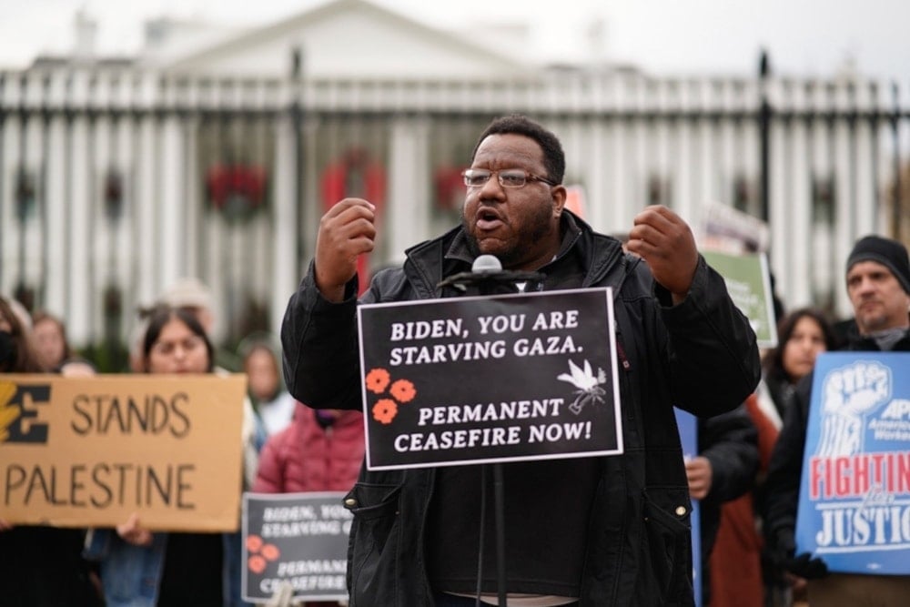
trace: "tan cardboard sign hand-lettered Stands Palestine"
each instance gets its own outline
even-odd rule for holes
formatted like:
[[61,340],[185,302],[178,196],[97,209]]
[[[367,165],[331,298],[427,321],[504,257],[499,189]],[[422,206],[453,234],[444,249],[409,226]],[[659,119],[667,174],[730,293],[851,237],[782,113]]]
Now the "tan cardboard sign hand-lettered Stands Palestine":
[[245,375],[0,375],[0,519],[235,531]]

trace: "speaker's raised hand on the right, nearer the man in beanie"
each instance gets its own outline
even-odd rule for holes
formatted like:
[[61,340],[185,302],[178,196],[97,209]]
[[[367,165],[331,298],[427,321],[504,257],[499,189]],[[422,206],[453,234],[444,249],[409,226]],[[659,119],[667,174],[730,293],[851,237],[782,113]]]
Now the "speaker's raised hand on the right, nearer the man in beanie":
[[652,206],[635,216],[626,247],[644,259],[654,279],[672,293],[673,303],[685,298],[698,266],[698,249],[689,225],[667,207]]

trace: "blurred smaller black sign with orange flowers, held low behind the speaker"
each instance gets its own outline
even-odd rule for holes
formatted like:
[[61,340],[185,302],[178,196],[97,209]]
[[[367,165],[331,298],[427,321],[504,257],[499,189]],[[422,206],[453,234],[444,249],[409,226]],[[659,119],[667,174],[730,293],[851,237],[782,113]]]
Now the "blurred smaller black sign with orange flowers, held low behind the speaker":
[[350,512],[343,491],[243,494],[243,599],[287,582],[307,601],[345,601]]

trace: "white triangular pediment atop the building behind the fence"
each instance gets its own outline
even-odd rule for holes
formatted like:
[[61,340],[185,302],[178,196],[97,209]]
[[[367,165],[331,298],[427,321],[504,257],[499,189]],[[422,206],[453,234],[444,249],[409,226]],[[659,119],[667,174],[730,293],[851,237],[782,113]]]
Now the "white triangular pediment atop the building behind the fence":
[[335,0],[159,63],[172,74],[286,77],[295,48],[303,76],[329,79],[487,79],[531,71],[480,41],[373,5]]

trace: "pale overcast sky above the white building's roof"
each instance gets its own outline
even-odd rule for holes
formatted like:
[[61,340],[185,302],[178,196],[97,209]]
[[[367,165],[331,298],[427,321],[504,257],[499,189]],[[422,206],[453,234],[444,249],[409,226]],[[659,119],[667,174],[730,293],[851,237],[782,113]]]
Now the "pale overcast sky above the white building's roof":
[[[778,73],[831,76],[852,61],[865,75],[910,85],[910,0],[373,0],[443,27],[525,21],[529,55],[578,59],[585,30],[602,20],[602,55],[652,73],[752,74],[759,49]],[[0,66],[66,53],[84,9],[102,53],[130,53],[144,19],[206,18],[256,25],[325,0],[0,0]],[[586,25],[587,24],[587,25]]]

